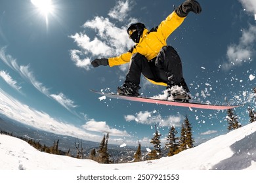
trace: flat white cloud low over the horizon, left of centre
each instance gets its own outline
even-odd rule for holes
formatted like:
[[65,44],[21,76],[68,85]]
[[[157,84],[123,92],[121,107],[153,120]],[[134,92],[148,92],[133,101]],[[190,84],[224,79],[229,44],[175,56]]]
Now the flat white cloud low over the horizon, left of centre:
[[83,129],[100,133],[110,133],[110,135],[114,136],[129,137],[129,134],[127,134],[126,131],[120,131],[116,128],[111,128],[106,124],[106,122],[96,122],[93,119],[83,125]]

